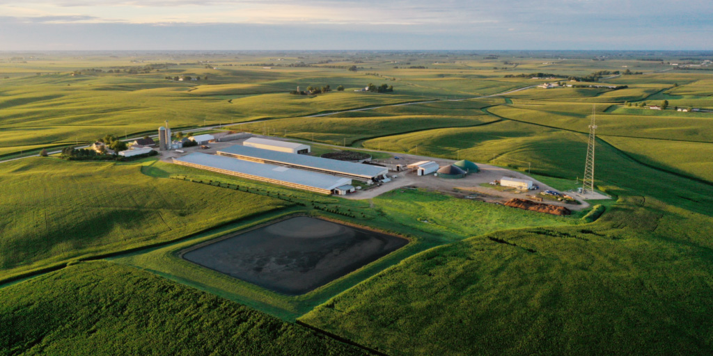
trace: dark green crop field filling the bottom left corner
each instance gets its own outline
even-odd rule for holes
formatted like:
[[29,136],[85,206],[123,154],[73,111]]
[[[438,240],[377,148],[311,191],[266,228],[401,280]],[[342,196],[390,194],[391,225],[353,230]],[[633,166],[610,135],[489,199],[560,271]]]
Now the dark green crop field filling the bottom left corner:
[[0,300],[0,355],[366,355],[302,326],[103,261],[0,289]]

